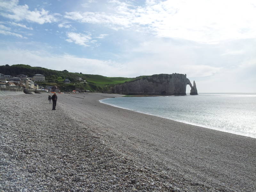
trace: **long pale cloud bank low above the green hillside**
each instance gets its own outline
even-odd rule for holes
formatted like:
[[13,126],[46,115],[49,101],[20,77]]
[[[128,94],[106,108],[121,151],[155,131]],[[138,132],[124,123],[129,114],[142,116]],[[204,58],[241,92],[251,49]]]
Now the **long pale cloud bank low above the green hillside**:
[[1,50],[0,65],[28,64],[53,70],[68,70],[84,74],[100,74],[103,76],[124,75],[129,69],[111,60],[79,58],[72,55],[52,55],[44,51]]

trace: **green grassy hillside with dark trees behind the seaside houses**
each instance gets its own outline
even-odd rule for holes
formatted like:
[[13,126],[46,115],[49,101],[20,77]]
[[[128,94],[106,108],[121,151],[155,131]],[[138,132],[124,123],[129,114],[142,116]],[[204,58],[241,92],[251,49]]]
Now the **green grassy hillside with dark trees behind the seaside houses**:
[[[51,70],[42,67],[31,67],[29,65],[3,65],[0,66],[0,73],[4,75],[18,76],[20,74],[27,75],[32,77],[35,74],[42,74],[45,76],[46,82],[37,82],[41,86],[47,85],[57,85],[61,91],[70,91],[70,90],[90,90],[90,91],[102,91],[105,86],[111,84],[119,84],[128,81],[132,81],[135,78],[126,78],[126,77],[106,77],[101,75],[90,75],[82,73],[71,73],[67,70],[57,71]],[[77,77],[81,77],[83,80],[86,80],[87,83],[79,82],[76,80]],[[65,84],[64,80],[69,79],[70,84]]]

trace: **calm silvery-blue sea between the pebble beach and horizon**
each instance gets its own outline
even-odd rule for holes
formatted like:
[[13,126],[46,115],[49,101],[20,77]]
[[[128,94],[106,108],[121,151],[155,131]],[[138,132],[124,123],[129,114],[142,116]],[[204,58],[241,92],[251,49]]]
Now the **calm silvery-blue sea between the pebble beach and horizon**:
[[256,138],[256,93],[120,97],[100,102],[140,113]]

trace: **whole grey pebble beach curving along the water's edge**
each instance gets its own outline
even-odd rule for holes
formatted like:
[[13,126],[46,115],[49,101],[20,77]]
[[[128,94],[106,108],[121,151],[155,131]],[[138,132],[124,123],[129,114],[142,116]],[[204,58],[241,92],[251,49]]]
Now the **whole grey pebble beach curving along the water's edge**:
[[0,191],[256,191],[256,139],[115,108],[0,97]]

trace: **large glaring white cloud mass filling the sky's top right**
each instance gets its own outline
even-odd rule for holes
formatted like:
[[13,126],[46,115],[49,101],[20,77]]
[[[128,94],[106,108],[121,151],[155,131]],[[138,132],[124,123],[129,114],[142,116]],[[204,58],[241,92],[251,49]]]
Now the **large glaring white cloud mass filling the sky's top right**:
[[103,24],[112,29],[150,31],[159,37],[214,43],[256,38],[256,6],[253,3],[253,0],[147,0],[144,6],[135,7],[131,2],[111,0],[108,10],[66,12],[65,18]]

